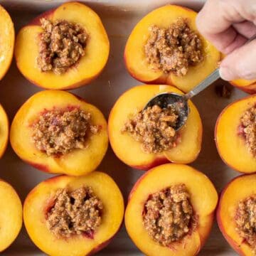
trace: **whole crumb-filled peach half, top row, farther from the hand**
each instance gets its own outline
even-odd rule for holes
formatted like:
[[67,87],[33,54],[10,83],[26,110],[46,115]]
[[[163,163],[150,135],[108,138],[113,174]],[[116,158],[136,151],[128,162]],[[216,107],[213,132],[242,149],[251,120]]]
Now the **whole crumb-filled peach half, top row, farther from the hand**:
[[88,84],[107,63],[110,42],[100,17],[68,2],[35,18],[19,31],[18,69],[35,85],[68,90]]

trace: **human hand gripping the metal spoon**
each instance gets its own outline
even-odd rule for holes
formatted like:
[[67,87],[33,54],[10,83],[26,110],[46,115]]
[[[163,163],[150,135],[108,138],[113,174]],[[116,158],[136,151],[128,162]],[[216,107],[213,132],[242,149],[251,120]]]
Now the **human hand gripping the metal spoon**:
[[198,13],[200,33],[226,56],[220,63],[224,80],[256,79],[255,0],[208,0]]

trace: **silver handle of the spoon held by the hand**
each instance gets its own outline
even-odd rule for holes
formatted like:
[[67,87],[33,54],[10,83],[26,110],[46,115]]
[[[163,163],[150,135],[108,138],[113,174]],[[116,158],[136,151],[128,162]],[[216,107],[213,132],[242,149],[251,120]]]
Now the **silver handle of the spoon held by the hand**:
[[[245,42],[245,45],[253,41],[255,38],[256,38],[256,34],[251,38],[249,38],[248,41]],[[213,73],[210,73],[210,75],[208,75],[208,77],[205,80],[203,80],[198,86],[193,88],[193,90],[191,90],[190,92],[186,93],[186,95],[184,95],[183,97],[186,100],[189,100],[191,97],[197,95],[199,92],[206,89],[206,87],[208,87],[210,84],[212,84],[213,82],[215,82],[215,80],[218,80],[219,78],[220,78],[220,69],[217,68],[213,71]]]

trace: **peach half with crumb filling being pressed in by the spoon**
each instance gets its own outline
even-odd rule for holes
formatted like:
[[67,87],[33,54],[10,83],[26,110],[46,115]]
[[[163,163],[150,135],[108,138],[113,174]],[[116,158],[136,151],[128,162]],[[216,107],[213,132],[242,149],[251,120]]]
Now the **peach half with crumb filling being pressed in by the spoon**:
[[[194,161],[201,151],[203,127],[198,110],[191,101],[188,102],[190,113],[187,122],[178,132],[173,131],[171,128],[173,120],[169,119],[174,118],[175,115],[161,117],[164,113],[160,113],[157,117],[159,118],[158,124],[154,123],[153,115],[146,113],[150,122],[144,118],[141,123],[142,127],[137,127],[136,118],[140,118],[139,115],[146,117],[142,112],[144,105],[151,97],[161,92],[182,93],[170,85],[139,85],[124,92],[110,112],[108,132],[112,149],[119,159],[134,168],[147,170],[169,161],[187,164]],[[152,122],[153,125],[159,126],[157,128],[159,136],[164,139],[164,143],[156,138],[158,135],[154,127],[151,129]],[[129,130],[129,127],[132,127],[134,131]],[[142,134],[137,138],[136,132],[139,132],[141,128],[151,129],[151,134],[146,136]],[[153,149],[150,148],[152,145]]]

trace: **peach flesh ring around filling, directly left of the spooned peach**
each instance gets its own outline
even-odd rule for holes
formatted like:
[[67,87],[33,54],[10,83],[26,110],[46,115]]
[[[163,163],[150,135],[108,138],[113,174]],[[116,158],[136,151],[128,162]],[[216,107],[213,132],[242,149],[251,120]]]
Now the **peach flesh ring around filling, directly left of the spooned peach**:
[[[48,110],[73,108],[90,113],[90,122],[100,127],[99,132],[88,135],[87,146],[83,149],[48,156],[33,142],[33,123]],[[46,90],[30,97],[18,110],[11,124],[10,141],[16,154],[37,169],[52,174],[79,176],[94,171],[105,156],[108,146],[107,122],[97,107],[70,92]]]

